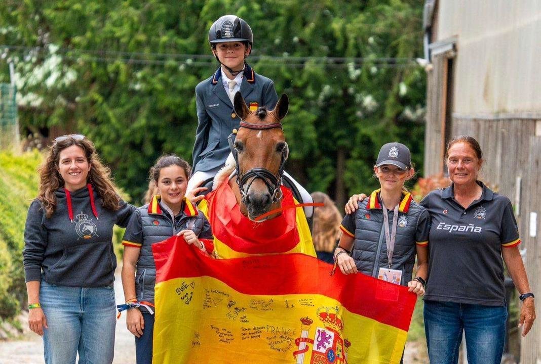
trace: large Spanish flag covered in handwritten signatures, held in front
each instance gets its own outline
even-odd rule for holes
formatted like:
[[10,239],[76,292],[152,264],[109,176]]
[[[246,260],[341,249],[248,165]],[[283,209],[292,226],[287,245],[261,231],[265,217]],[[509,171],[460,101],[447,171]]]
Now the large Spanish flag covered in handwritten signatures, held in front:
[[213,259],[153,245],[154,363],[399,363],[417,296],[306,254]]

